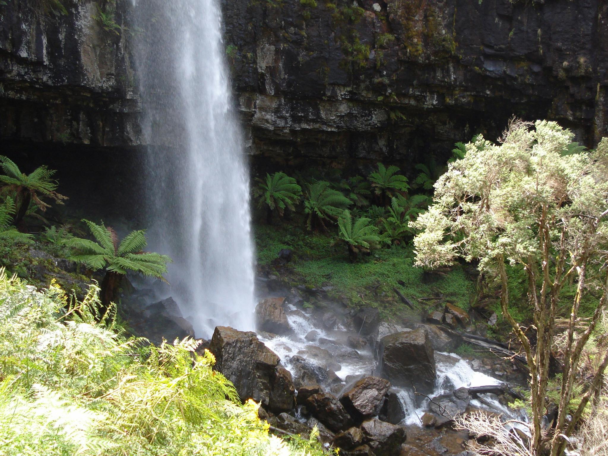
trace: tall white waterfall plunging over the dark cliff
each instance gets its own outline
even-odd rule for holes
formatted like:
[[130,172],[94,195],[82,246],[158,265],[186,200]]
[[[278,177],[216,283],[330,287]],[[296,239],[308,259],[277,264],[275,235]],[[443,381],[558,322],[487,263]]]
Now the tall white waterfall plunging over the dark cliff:
[[150,248],[197,337],[254,329],[249,176],[218,0],[135,0]]

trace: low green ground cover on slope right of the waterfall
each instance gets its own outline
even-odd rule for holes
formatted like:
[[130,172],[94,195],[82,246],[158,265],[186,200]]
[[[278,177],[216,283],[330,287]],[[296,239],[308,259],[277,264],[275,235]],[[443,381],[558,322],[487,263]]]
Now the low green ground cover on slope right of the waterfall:
[[288,263],[285,274],[291,271],[294,277],[299,275],[297,278],[307,286],[333,286],[332,293],[346,296],[351,305],[377,306],[385,316],[407,309],[393,288],[398,289],[418,310],[429,309],[433,301],[424,302],[417,298],[440,294],[455,305],[468,309],[474,295],[474,283],[466,277],[460,265],[438,273],[426,273],[413,266],[410,247],[375,249],[369,257],[351,263],[344,244],[336,243],[336,237],[329,234],[299,234],[297,227],[260,225],[255,227],[255,241],[258,264],[273,268],[278,252],[291,249],[294,259]]

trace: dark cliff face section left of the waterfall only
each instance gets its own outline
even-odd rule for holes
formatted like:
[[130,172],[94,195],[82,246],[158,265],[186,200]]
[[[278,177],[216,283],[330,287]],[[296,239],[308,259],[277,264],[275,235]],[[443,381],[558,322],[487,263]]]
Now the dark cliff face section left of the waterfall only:
[[[128,33],[105,30],[99,3],[0,6],[0,138],[127,148],[139,142]],[[116,20],[124,5],[119,3]],[[40,145],[38,145],[40,147]]]

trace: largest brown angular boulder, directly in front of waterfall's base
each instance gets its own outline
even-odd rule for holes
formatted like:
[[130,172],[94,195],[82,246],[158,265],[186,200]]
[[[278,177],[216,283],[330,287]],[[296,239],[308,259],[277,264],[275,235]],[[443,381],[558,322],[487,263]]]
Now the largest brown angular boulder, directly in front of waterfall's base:
[[288,412],[294,407],[295,388],[291,373],[280,365],[277,354],[251,331],[217,326],[209,350],[215,354],[213,366],[229,379],[244,402],[254,399],[272,412]]

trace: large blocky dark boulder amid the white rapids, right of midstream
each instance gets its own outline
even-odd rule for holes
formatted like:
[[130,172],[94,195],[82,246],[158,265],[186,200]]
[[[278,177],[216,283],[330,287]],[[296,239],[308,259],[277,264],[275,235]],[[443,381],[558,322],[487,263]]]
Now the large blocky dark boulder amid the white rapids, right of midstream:
[[390,334],[380,342],[382,373],[393,385],[429,394],[435,385],[435,356],[427,328]]

